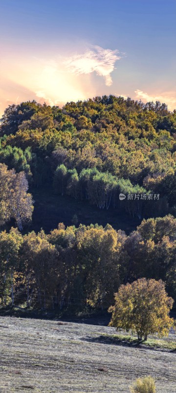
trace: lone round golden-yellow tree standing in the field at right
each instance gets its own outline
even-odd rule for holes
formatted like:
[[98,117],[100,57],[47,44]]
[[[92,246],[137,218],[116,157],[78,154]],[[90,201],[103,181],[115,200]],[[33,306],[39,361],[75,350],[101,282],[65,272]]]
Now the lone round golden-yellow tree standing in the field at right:
[[121,285],[115,293],[115,305],[109,308],[112,312],[110,326],[137,333],[138,339],[147,340],[148,334],[154,333],[159,337],[167,336],[175,325],[169,316],[173,303],[161,280],[143,278]]

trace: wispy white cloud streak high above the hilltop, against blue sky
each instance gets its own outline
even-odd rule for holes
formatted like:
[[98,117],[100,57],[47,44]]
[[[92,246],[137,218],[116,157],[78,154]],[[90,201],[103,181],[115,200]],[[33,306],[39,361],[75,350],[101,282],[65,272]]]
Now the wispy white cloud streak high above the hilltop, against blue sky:
[[103,76],[106,85],[110,86],[110,74],[115,68],[115,62],[120,58],[118,50],[103,49],[96,45],[84,54],[69,57],[64,63],[68,71],[76,75],[96,72],[97,75]]

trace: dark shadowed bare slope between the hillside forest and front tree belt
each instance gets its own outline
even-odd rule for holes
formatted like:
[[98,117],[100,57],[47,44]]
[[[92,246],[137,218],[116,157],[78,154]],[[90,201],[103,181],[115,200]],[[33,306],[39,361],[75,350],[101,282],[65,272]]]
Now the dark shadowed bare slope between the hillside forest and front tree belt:
[[124,212],[117,210],[100,210],[92,206],[88,201],[77,201],[68,196],[54,195],[52,188],[33,189],[32,193],[34,203],[34,212],[32,225],[26,229],[39,231],[41,227],[45,232],[57,227],[59,223],[72,225],[71,219],[74,214],[78,217],[78,225],[90,225],[98,223],[105,226],[107,223],[115,229],[125,230],[129,234],[140,224],[140,221],[133,219]]

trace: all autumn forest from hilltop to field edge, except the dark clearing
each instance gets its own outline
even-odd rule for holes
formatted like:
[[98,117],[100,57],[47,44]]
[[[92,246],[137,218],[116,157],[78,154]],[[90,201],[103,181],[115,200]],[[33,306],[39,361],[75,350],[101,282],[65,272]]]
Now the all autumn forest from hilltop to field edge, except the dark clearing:
[[[49,187],[56,197],[68,195],[144,220],[129,236],[108,224],[76,227],[76,217],[73,225],[59,224],[49,234],[22,235],[32,220],[28,187]],[[66,299],[108,308],[120,284],[142,277],[162,279],[176,300],[175,217],[176,111],[165,104],[110,95],[62,109],[28,101],[5,110],[0,120],[2,305],[14,303],[16,296],[42,308],[61,307]],[[18,229],[8,232],[4,225],[10,220]]]

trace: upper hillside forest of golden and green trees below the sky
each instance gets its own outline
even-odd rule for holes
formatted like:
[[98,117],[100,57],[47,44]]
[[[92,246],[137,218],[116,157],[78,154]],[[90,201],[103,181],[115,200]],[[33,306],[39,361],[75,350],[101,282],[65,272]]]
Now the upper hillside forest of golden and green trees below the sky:
[[[100,208],[115,207],[123,190],[159,194],[155,204],[124,207],[139,217],[176,213],[176,111],[165,104],[112,95],[63,109],[29,101],[5,110],[0,135],[0,162],[24,170],[30,185],[54,182],[56,192],[88,196]],[[91,182],[104,187],[102,200],[92,201]]]

